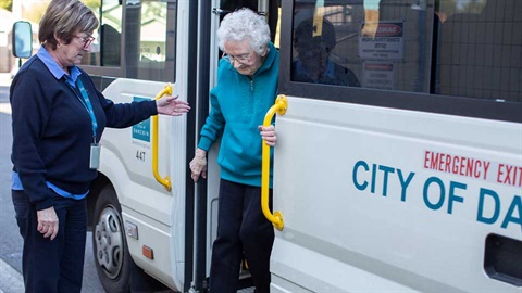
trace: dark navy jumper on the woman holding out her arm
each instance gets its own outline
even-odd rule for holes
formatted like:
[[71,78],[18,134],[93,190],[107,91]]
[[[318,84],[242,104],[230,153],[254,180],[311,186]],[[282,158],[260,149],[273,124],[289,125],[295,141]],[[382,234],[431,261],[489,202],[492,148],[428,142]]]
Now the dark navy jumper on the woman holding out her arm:
[[[124,128],[157,115],[156,101],[114,104],[80,69],[98,123],[97,141],[105,127]],[[73,194],[86,193],[97,170],[89,169],[91,118],[78,90],[57,79],[37,56],[16,74],[10,89],[13,127],[11,160],[23,189],[36,208],[53,205],[46,181]]]

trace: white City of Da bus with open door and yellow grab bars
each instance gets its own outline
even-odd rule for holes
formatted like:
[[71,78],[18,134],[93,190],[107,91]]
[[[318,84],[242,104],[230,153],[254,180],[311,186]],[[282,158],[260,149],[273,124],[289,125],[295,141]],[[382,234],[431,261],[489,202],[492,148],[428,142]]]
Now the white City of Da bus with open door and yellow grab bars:
[[521,1],[89,5],[101,26],[82,67],[107,98],[172,91],[191,106],[104,132],[88,225],[107,292],[136,275],[208,291],[219,145],[206,180],[188,163],[215,30],[240,7],[266,17],[281,53],[271,291],[522,292]]

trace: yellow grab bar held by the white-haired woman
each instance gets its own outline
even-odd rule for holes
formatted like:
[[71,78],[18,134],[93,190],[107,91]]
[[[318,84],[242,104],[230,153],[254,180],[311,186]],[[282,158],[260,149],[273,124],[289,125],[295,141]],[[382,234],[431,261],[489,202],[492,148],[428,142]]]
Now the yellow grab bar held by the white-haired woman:
[[[264,116],[263,126],[268,127],[272,123],[272,117],[275,113],[279,115],[285,115],[288,102],[286,101],[286,95],[279,94],[275,100],[273,106],[270,107],[269,112]],[[269,178],[270,178],[270,146],[262,141],[263,152],[262,152],[262,162],[261,162],[261,209],[263,211],[264,216],[268,220],[274,225],[277,230],[283,230],[285,222],[283,221],[283,215],[279,212],[270,212],[269,208]]]

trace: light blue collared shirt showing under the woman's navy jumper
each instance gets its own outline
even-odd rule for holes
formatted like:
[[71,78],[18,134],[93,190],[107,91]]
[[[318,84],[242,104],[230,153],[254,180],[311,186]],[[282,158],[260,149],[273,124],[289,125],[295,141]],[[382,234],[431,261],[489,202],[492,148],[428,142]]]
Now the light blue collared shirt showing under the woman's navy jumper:
[[[82,74],[82,72],[78,69],[76,66],[71,66],[69,69],[71,71],[71,75],[65,73],[59,65],[58,63],[52,59],[51,54],[44,48],[44,46],[38,49],[38,52],[36,55],[46,64],[47,68],[51,72],[51,74],[57,78],[58,80],[62,79],[65,76],[66,82],[72,86],[73,88],[76,88],[76,79],[78,76]],[[11,189],[12,190],[24,190],[24,187],[22,186],[22,181],[20,181],[20,176],[17,173],[13,171],[11,176]],[[54,186],[53,183],[46,181],[47,187],[52,189],[55,193],[60,194],[63,198],[70,198],[74,200],[82,200],[87,194],[89,191],[83,194],[73,194],[71,192],[67,192],[63,189],[60,189],[59,187]]]

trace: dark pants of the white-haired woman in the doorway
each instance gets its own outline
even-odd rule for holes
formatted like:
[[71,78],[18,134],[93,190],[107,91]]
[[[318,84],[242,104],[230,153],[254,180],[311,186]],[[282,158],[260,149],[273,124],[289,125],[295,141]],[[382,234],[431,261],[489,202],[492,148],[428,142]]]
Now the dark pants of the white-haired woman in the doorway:
[[[269,200],[272,203],[272,190]],[[210,292],[237,292],[243,255],[252,275],[256,292],[270,292],[273,243],[274,228],[261,211],[261,188],[222,179],[217,238],[212,246]]]

